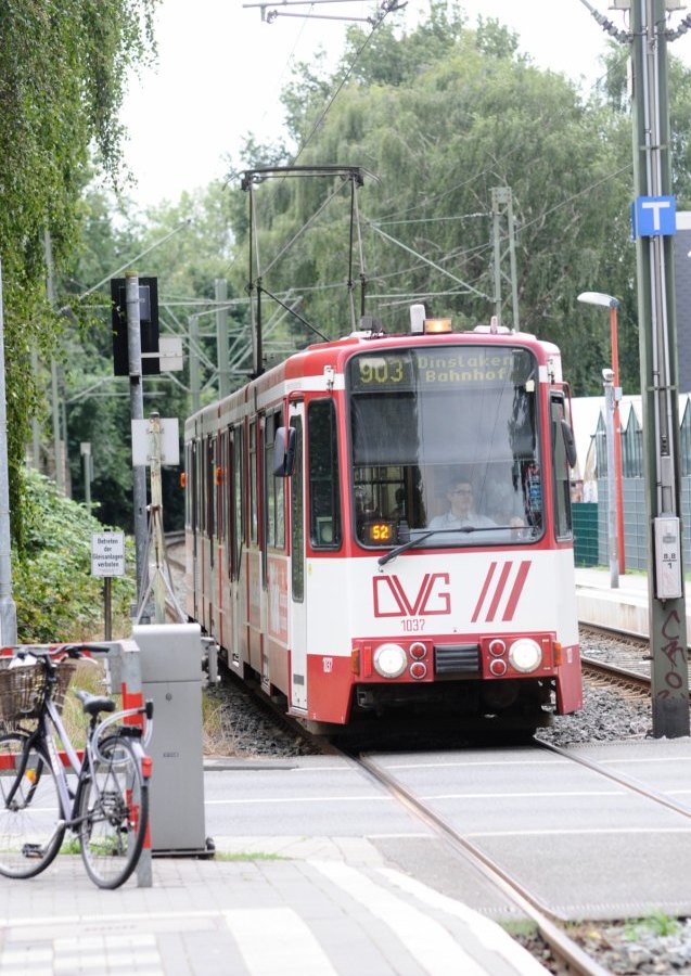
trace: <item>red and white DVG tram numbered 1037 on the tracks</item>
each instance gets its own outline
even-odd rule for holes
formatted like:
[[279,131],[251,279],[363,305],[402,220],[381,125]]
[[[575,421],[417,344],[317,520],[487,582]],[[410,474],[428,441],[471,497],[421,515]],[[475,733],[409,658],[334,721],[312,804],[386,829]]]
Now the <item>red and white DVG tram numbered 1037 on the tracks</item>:
[[311,346],[188,420],[188,613],[305,720],[534,728],[583,705],[560,352],[418,328]]

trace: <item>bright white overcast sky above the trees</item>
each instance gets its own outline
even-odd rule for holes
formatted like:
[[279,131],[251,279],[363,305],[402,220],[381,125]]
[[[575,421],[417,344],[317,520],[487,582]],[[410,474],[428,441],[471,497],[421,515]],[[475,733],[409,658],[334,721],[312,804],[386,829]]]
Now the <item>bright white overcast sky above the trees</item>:
[[[156,17],[158,64],[132,78],[123,120],[130,133],[126,162],[137,179],[131,195],[140,206],[205,187],[226,176],[223,157],[238,159],[248,131],[265,142],[280,134],[279,92],[291,64],[309,61],[321,46],[335,60],[346,24],[303,16],[310,8],[268,9],[299,16],[261,22],[255,0],[163,0]],[[611,0],[590,0],[618,28],[624,15],[609,11]],[[497,17],[520,36],[521,50],[535,62],[589,80],[600,74],[598,57],[606,36],[580,0],[459,0],[474,26],[478,14]],[[364,0],[313,7],[315,13],[367,16]],[[409,0],[406,20],[414,24],[427,0]],[[674,16],[673,26],[679,21]],[[367,26],[367,25],[363,25]],[[691,33],[671,46],[691,64]]]

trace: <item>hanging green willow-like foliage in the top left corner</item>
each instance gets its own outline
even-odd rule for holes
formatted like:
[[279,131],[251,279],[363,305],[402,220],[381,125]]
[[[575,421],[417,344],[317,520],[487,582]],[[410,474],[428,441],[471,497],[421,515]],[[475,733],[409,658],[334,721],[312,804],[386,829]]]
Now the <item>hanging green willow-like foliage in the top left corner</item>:
[[20,545],[24,448],[38,404],[30,352],[49,360],[62,332],[46,295],[44,233],[60,269],[78,242],[90,146],[105,172],[119,174],[124,79],[152,49],[155,4],[0,4],[0,257],[12,529]]

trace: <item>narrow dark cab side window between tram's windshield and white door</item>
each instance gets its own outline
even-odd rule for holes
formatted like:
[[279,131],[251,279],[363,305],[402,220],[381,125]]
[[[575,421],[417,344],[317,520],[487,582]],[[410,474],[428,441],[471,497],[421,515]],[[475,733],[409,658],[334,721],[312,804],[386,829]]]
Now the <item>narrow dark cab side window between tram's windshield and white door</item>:
[[336,411],[332,400],[315,400],[307,411],[309,537],[315,549],[341,545],[341,489]]

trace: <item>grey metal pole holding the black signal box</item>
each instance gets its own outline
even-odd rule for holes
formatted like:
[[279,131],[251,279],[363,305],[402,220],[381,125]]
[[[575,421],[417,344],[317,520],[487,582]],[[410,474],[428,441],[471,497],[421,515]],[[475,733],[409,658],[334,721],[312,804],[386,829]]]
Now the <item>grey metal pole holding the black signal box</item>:
[[[139,277],[128,271],[125,277],[127,306],[127,351],[129,355],[129,407],[132,420],[144,419],[144,390],[141,371],[141,324],[139,316]],[[144,558],[146,553],[146,467],[132,466],[132,503],[135,550],[137,554],[137,605],[142,598]]]

